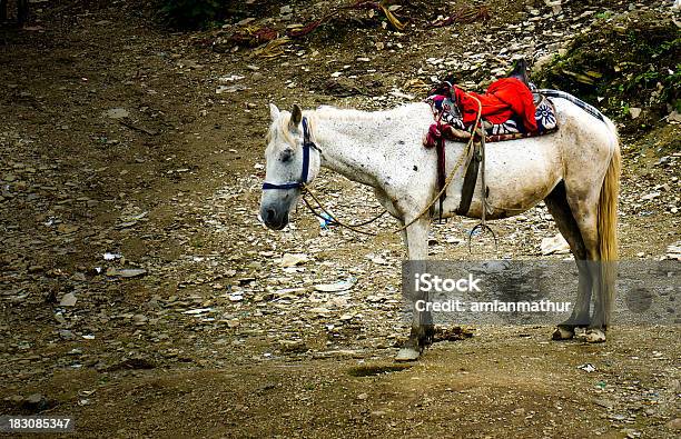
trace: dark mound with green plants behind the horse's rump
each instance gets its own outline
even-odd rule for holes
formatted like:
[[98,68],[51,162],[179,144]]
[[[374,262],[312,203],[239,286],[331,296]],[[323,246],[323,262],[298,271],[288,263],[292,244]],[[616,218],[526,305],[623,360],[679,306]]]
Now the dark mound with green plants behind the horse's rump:
[[[671,20],[623,13],[598,20],[534,79],[579,96],[636,131],[671,109],[681,111],[679,60],[681,38]],[[634,107],[643,109],[635,122],[629,111]]]

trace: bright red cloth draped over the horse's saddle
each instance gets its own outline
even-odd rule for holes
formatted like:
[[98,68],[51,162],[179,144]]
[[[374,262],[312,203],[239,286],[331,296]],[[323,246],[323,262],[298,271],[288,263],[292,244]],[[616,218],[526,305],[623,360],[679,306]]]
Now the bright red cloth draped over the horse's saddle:
[[494,124],[504,123],[517,114],[527,131],[536,132],[535,107],[532,92],[521,80],[502,78],[487,88],[485,94],[465,92],[458,87],[454,88],[456,102],[463,116],[463,122],[470,126],[477,117],[477,102],[471,97],[480,99],[482,103],[482,119]]

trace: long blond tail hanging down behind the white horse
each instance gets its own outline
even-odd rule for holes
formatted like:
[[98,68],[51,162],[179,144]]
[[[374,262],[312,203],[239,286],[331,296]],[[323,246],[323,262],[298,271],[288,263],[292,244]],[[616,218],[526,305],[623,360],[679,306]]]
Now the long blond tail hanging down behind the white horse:
[[612,121],[605,118],[604,120],[613,139],[613,152],[608,164],[608,171],[603,184],[601,186],[601,194],[599,198],[599,251],[601,260],[599,262],[601,270],[601,295],[603,298],[604,325],[609,323],[610,310],[614,301],[615,293],[615,261],[618,259],[618,196],[620,192],[620,171],[622,157],[620,152],[620,141],[618,131]]

